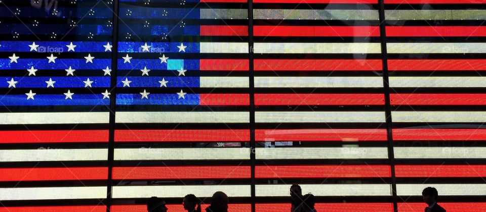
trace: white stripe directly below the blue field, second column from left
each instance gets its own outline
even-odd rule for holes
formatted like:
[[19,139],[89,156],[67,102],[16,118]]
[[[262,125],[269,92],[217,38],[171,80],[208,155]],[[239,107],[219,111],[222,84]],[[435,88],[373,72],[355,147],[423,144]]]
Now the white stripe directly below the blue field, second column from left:
[[116,123],[248,123],[249,112],[116,112]]

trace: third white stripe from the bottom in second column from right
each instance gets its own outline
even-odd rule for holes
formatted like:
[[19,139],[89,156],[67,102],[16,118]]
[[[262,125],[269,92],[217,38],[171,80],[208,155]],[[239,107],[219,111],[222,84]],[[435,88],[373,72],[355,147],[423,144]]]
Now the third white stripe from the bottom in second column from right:
[[384,112],[255,112],[257,123],[375,123],[385,122]]

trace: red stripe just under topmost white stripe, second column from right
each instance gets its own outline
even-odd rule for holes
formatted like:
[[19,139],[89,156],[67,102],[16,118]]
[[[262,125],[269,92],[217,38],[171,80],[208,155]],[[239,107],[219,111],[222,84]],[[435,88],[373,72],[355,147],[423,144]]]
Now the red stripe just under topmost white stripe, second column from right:
[[255,36],[378,37],[377,26],[254,26]]

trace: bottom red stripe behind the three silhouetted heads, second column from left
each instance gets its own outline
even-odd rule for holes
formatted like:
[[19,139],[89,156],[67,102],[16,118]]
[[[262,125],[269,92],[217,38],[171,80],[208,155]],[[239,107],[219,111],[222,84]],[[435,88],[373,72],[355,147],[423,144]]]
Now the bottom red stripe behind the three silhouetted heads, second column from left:
[[[169,212],[187,212],[181,204],[166,204],[167,211]],[[206,207],[209,205],[202,204],[201,210],[206,211]],[[228,204],[228,211],[232,212],[248,212],[252,210],[251,204]],[[147,205],[112,205],[111,212],[147,212]]]

